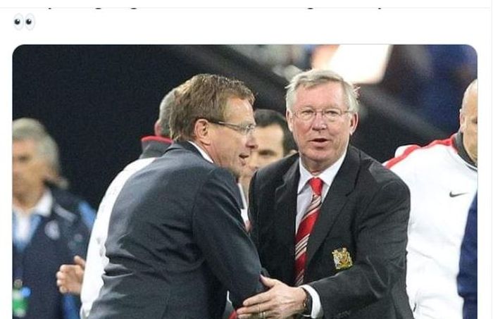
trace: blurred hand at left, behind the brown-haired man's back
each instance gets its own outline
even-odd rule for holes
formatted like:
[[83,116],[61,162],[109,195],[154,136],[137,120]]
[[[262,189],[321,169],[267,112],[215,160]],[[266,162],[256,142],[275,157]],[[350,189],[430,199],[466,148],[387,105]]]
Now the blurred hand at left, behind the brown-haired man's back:
[[85,265],[82,257],[75,256],[73,265],[60,266],[56,273],[56,285],[62,294],[80,294]]

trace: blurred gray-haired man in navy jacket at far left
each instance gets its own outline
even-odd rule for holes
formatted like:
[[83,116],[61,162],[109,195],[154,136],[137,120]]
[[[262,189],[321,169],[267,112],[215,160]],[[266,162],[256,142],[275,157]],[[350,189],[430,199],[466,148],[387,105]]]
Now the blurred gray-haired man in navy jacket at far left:
[[58,147],[39,121],[20,118],[12,130],[13,318],[65,319],[78,301],[56,289],[55,273],[85,256],[94,211],[58,187]]

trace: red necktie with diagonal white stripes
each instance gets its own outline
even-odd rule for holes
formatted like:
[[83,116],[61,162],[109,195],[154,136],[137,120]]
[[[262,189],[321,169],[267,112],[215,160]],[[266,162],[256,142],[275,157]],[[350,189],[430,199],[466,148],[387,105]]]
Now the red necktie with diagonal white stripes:
[[296,276],[295,283],[297,286],[303,283],[306,264],[306,246],[313,225],[315,225],[317,220],[320,206],[322,205],[323,180],[320,180],[318,177],[312,177],[308,183],[312,190],[311,202],[308,208],[306,208],[303,218],[301,218],[301,223],[294,239],[296,243],[294,246],[294,275]]

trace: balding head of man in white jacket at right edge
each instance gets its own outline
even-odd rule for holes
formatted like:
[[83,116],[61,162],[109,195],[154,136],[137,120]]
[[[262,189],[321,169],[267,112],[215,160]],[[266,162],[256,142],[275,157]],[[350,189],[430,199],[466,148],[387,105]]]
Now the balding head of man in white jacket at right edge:
[[468,156],[478,163],[478,80],[470,83],[461,107],[461,127],[459,131],[463,134],[464,148]]

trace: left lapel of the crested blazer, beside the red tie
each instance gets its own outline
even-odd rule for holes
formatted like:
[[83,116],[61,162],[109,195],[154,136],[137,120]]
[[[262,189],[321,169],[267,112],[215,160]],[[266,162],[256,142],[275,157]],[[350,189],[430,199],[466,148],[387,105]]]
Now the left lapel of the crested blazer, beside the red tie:
[[[275,189],[275,238],[285,244],[287,276],[294,280],[294,227],[297,209],[297,189],[299,181],[298,161],[295,161],[284,175],[284,183]],[[277,254],[283,254],[277,252]],[[290,273],[289,273],[290,271]]]

